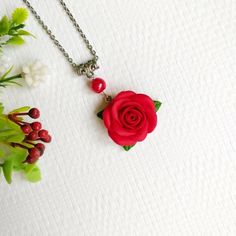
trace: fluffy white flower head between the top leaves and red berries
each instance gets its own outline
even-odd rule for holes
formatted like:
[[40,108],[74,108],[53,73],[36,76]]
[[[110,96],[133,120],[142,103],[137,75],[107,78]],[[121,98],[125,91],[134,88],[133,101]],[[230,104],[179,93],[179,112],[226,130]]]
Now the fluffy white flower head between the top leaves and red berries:
[[48,68],[40,61],[22,67],[22,77],[30,87],[36,87],[49,76]]

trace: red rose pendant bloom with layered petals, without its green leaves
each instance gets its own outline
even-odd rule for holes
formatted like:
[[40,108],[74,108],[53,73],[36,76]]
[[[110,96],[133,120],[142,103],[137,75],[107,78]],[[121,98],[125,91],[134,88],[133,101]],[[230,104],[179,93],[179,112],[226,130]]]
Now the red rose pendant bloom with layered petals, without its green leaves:
[[143,141],[157,125],[154,101],[145,94],[122,91],[102,113],[104,124],[112,140],[122,146]]

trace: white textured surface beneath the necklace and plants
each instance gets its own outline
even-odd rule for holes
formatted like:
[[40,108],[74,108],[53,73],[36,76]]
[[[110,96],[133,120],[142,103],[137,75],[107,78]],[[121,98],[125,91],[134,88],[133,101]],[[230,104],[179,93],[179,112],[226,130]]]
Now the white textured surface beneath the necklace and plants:
[[[89,58],[56,0],[31,2],[77,62]],[[1,178],[0,234],[236,235],[236,2],[66,2],[95,45],[107,92],[159,99],[159,125],[129,152],[113,144],[95,116],[101,97],[30,17],[37,40],[6,53],[18,66],[41,59],[52,77],[2,100],[7,110],[39,107],[53,143],[40,183]],[[0,13],[17,6],[1,0]]]

